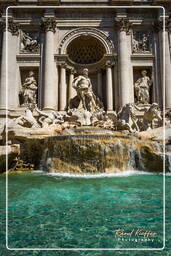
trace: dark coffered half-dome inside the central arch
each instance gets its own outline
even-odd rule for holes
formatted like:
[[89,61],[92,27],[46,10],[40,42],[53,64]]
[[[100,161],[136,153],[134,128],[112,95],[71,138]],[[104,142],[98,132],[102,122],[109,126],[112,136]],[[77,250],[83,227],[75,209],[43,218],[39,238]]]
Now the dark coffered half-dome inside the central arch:
[[91,35],[80,35],[73,39],[67,47],[67,54],[76,64],[94,64],[106,53],[104,45]]

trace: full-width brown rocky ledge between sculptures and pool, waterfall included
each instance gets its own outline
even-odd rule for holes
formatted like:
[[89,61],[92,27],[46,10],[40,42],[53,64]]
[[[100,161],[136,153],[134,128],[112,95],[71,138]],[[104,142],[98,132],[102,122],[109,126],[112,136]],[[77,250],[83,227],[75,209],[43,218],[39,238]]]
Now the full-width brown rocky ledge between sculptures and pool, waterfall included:
[[[8,145],[9,170],[42,169],[46,172],[114,173],[124,170],[162,172],[164,165],[161,129],[131,134],[99,127],[69,128],[56,133],[22,129],[10,133]],[[171,128],[166,129],[169,145]],[[15,144],[13,144],[15,143]],[[17,144],[17,145],[16,145]],[[2,146],[1,146],[2,149]],[[5,167],[4,146],[1,170]],[[168,153],[168,152],[167,152]],[[2,160],[4,159],[4,160]],[[166,172],[170,156],[166,154]]]

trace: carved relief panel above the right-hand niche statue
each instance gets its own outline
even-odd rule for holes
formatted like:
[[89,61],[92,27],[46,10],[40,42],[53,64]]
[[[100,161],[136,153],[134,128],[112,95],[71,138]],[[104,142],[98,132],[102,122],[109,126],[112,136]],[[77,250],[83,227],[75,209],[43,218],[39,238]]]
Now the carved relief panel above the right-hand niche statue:
[[150,52],[150,34],[142,32],[134,32],[132,39],[133,53]]

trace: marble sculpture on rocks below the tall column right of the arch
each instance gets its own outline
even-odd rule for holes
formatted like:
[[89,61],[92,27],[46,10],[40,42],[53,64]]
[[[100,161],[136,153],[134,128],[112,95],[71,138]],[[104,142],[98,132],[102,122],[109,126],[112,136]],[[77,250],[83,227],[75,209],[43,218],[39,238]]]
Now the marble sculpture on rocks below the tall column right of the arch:
[[128,103],[118,112],[117,130],[139,131],[134,104]]

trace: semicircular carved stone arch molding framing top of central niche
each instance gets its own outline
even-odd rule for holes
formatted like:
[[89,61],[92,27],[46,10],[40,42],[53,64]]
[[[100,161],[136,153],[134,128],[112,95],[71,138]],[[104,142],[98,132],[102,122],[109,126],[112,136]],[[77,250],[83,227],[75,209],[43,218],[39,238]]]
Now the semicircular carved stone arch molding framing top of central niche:
[[101,43],[104,45],[106,53],[111,54],[114,52],[114,45],[113,42],[109,39],[109,36],[106,35],[104,32],[95,29],[95,28],[77,28],[74,30],[71,30],[68,32],[64,38],[62,39],[60,45],[59,45],[59,53],[60,54],[66,54],[67,46],[70,44],[70,42],[82,35],[87,36],[93,36],[101,41]]

